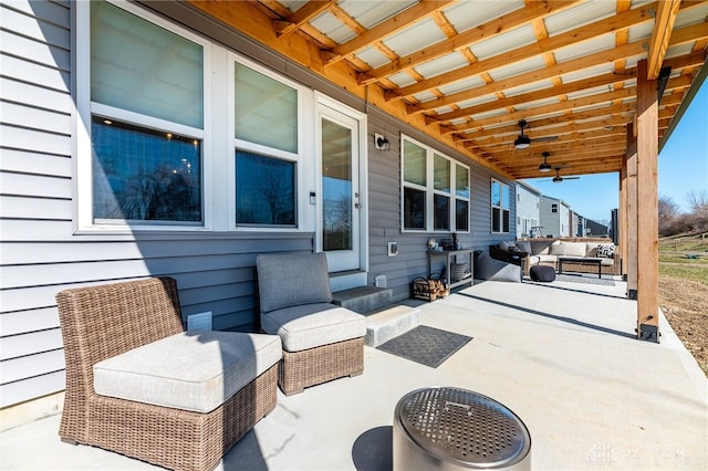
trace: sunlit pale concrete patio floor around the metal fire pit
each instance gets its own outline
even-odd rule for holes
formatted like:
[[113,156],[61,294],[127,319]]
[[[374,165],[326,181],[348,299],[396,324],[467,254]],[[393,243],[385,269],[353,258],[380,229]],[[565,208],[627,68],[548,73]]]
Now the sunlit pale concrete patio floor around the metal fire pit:
[[[537,470],[708,469],[708,380],[662,316],[634,338],[625,284],[480,282],[420,323],[473,337],[438,368],[365,347],[364,374],[285,397],[225,457],[225,470],[391,470],[396,402],[421,387],[489,396],[531,433]],[[0,469],[157,469],[60,441],[59,416],[0,435]]]

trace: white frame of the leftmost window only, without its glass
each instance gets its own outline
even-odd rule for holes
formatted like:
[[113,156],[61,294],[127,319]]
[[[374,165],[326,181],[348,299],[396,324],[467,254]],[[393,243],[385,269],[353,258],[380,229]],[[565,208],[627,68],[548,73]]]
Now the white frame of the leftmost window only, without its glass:
[[[74,187],[74,201],[76,205],[76,214],[74,231],[76,233],[86,232],[117,232],[132,233],[135,230],[145,231],[204,231],[211,230],[211,207],[212,207],[212,139],[209,137],[211,132],[211,85],[209,80],[209,71],[211,70],[211,49],[212,44],[183,29],[178,25],[157,17],[144,9],[140,9],[127,1],[108,1],[123,10],[133,13],[150,23],[164,28],[175,34],[178,34],[191,42],[202,46],[204,51],[204,122],[202,129],[191,126],[171,123],[152,116],[142,115],[139,113],[129,112],[113,106],[91,101],[91,2],[76,2],[76,56],[75,56],[75,75],[76,75],[76,116],[75,123],[75,155],[76,155],[76,184]],[[146,126],[152,129],[178,133],[185,137],[201,140],[201,206],[202,221],[200,224],[180,224],[179,221],[174,223],[145,223],[115,220],[95,222],[93,218],[93,159],[92,159],[92,140],[91,140],[91,121],[92,116],[102,115],[110,116],[117,121],[125,121],[137,126]]]

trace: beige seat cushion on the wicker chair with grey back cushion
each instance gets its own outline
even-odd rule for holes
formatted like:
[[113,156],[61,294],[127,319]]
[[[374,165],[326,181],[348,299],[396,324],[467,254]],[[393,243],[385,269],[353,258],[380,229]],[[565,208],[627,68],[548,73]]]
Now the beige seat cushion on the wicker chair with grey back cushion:
[[363,315],[331,303],[302,304],[271,311],[261,315],[261,327],[269,334],[278,334],[288,352],[366,335]]

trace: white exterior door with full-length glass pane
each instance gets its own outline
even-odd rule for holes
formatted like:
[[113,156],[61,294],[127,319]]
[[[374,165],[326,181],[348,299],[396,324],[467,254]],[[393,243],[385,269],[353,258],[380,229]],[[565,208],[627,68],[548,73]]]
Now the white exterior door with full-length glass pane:
[[362,192],[360,188],[360,122],[319,105],[320,210],[319,249],[330,272],[362,268]]

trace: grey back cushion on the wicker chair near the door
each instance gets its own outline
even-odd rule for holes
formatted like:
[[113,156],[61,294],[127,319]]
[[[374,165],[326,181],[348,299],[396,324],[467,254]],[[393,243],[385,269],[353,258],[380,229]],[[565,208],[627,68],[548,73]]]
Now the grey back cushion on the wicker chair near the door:
[[261,313],[332,301],[327,259],[319,253],[269,253],[256,258]]

